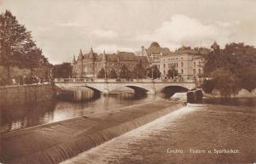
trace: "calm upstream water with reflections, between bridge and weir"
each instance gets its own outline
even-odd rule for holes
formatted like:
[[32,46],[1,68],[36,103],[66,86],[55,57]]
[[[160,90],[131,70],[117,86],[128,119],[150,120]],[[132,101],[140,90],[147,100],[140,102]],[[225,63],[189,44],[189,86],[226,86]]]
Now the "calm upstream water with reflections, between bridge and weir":
[[49,101],[29,105],[5,106],[2,108],[0,132],[58,122],[104,110],[154,101],[155,99],[159,98],[144,93],[114,93],[107,97],[97,96],[95,99],[86,102],[50,99]]

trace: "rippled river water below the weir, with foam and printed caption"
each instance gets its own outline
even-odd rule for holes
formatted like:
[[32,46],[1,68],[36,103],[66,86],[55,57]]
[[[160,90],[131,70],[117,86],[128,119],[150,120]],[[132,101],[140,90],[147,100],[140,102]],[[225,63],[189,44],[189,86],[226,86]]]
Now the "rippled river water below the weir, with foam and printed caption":
[[256,99],[207,99],[81,153],[70,163],[253,163]]

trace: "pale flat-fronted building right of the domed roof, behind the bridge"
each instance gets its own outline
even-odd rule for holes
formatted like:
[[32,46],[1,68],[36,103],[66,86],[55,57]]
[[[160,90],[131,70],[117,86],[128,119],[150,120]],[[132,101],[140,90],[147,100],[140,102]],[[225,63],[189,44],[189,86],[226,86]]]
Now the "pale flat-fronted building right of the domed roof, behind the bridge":
[[207,48],[183,47],[171,54],[160,57],[160,72],[166,78],[169,70],[177,71],[183,80],[195,79],[202,75],[204,55],[209,53]]

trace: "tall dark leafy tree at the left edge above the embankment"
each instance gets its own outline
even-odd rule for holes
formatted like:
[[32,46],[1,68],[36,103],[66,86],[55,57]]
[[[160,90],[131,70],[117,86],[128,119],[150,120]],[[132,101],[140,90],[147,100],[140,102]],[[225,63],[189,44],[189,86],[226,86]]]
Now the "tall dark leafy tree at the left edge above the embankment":
[[0,65],[8,71],[10,78],[11,66],[25,68],[37,67],[42,56],[42,50],[32,41],[31,31],[20,25],[16,17],[8,10],[0,14]]

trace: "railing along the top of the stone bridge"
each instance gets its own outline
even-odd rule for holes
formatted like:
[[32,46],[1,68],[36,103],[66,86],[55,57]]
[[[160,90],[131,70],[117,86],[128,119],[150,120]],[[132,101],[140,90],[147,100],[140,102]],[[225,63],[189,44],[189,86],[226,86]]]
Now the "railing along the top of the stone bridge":
[[195,82],[188,79],[104,79],[104,78],[55,78],[55,82]]

